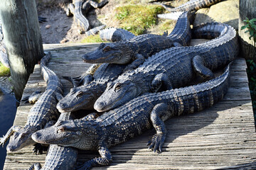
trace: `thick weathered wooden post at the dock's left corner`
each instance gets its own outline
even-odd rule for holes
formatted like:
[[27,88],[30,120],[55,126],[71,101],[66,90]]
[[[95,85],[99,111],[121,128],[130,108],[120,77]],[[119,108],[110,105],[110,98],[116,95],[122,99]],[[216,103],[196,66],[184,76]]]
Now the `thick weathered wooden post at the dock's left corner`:
[[1,0],[0,18],[4,44],[9,55],[14,93],[19,100],[29,74],[43,57],[36,1]]

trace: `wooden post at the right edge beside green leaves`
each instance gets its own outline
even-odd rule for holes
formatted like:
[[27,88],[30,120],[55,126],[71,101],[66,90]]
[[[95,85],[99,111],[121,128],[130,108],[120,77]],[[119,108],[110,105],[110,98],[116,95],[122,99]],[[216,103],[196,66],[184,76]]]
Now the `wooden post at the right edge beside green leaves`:
[[241,26],[245,26],[243,20],[246,18],[256,18],[256,0],[240,0],[239,1],[239,25],[238,34],[240,37],[241,52],[245,59],[251,59],[256,61],[256,46],[253,38],[249,39],[249,33],[245,33],[245,30],[241,30]]

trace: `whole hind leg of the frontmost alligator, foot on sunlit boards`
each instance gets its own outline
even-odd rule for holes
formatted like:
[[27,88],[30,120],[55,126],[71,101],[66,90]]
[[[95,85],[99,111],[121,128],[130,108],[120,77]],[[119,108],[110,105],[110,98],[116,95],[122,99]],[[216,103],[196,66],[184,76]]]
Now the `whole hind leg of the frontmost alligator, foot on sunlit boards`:
[[152,140],[149,140],[148,146],[149,149],[154,149],[154,152],[158,150],[161,152],[161,148],[164,145],[164,140],[166,138],[166,127],[164,121],[161,120],[161,117],[167,115],[168,106],[166,103],[159,103],[154,106],[150,114],[150,120],[156,130],[156,134],[152,137]]

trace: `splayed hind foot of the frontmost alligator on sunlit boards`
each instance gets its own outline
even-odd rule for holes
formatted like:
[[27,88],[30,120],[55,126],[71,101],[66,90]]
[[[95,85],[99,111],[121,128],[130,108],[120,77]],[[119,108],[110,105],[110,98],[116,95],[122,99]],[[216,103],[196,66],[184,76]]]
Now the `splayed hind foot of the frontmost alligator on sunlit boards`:
[[161,148],[164,145],[165,137],[166,137],[165,134],[155,134],[152,137],[152,140],[149,140],[149,142],[147,143],[147,146],[149,146],[149,149],[153,149],[154,152],[158,150],[161,153]]

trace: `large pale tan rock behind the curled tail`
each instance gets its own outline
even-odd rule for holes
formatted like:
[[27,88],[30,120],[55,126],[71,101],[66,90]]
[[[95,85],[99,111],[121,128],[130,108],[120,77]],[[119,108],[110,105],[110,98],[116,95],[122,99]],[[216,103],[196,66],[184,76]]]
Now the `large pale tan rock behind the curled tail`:
[[220,22],[238,30],[239,0],[221,1],[210,8],[201,8],[196,12],[193,26],[201,23]]

